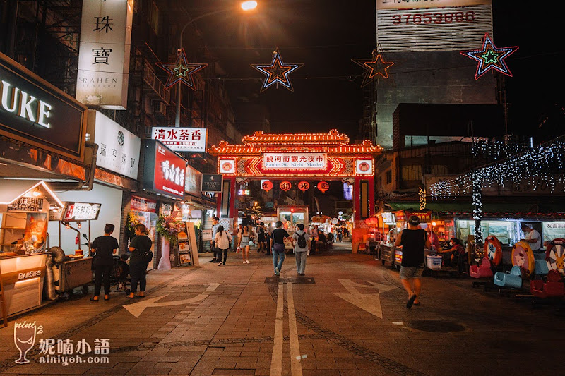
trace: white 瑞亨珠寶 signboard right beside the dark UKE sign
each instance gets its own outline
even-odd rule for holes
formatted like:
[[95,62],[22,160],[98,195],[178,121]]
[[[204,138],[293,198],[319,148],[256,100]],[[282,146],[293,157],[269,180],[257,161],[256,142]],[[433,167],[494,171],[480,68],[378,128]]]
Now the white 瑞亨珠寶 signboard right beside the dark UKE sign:
[[96,165],[136,179],[141,138],[98,111],[88,111],[91,121],[95,121],[94,142],[98,144]]

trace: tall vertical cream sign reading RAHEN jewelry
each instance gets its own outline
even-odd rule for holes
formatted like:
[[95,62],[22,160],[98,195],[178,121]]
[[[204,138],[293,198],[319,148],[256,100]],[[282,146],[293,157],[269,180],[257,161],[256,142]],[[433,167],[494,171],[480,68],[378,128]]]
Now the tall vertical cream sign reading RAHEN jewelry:
[[126,109],[133,0],[83,0],[76,99]]

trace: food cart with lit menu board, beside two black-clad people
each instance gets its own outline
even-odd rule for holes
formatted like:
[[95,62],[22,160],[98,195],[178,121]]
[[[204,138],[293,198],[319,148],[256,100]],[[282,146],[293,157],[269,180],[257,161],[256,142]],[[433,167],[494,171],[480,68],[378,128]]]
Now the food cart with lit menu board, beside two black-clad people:
[[[47,293],[52,300],[57,297],[59,299],[68,298],[77,287],[81,287],[83,294],[87,294],[88,285],[93,281],[93,257],[90,256],[90,221],[98,218],[100,204],[65,202],[65,205],[65,209],[60,214],[52,214],[49,217],[49,220],[59,221],[59,246],[49,248],[51,257],[47,260],[47,286],[49,286]],[[84,243],[86,255],[81,248],[80,229],[83,222],[88,224],[88,236],[82,234],[86,240],[86,243]],[[63,227],[66,230],[76,231],[78,249],[74,251],[74,254],[66,255],[61,248]]]

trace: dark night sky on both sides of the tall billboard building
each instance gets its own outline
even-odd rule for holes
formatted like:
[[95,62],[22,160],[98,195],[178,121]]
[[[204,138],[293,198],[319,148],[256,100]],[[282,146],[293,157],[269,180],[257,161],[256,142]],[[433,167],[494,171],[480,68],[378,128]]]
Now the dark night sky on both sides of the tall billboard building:
[[[362,116],[364,71],[351,59],[370,58],[375,47],[375,2],[259,2],[254,16],[225,13],[198,23],[210,50],[227,71],[225,82],[234,107],[240,101],[264,104],[275,133],[338,128],[355,139]],[[187,9],[194,17],[234,1],[192,3]],[[537,140],[564,133],[561,13],[549,5],[525,1],[494,0],[493,9],[494,44],[520,47],[506,60],[513,73],[506,80],[509,132],[534,135]],[[260,93],[264,76],[250,64],[270,63],[275,47],[285,63],[304,63],[290,75],[294,92],[270,87]],[[253,128],[253,124],[248,126]]]

